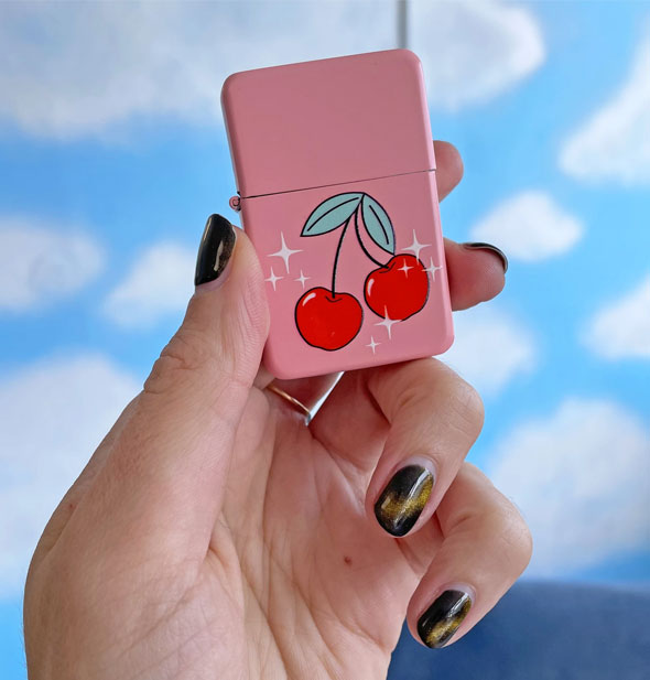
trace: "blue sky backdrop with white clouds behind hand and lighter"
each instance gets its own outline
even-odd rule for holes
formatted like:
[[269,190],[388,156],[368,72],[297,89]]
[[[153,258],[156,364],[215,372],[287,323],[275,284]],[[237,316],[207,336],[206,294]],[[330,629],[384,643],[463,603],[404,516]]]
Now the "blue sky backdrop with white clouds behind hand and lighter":
[[[412,2],[445,235],[510,258],[447,360],[528,578],[650,583],[650,3]],[[390,1],[0,4],[0,678],[37,537],[180,323],[235,193],[235,71],[396,45]],[[3,674],[6,673],[6,674]]]

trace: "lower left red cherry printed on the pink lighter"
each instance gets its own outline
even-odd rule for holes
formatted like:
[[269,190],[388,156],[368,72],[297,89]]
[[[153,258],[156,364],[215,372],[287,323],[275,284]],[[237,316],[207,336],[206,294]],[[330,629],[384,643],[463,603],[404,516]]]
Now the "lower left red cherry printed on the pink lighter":
[[362,321],[364,310],[354,295],[326,288],[312,288],[295,305],[295,324],[303,339],[329,352],[351,342]]

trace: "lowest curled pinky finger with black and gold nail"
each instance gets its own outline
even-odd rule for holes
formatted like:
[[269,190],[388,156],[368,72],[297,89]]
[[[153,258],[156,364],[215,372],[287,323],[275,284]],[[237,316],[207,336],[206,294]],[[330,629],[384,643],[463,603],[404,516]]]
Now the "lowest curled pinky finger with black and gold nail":
[[469,463],[435,517],[443,543],[407,614],[413,637],[432,648],[472,629],[514,583],[532,553],[530,531],[517,508]]

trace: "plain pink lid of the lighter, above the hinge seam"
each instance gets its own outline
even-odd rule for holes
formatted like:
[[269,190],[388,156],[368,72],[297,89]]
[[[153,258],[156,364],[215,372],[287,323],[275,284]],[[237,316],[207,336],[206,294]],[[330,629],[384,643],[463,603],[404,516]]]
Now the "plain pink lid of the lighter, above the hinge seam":
[[221,106],[242,197],[435,168],[422,65],[409,50],[235,73]]

